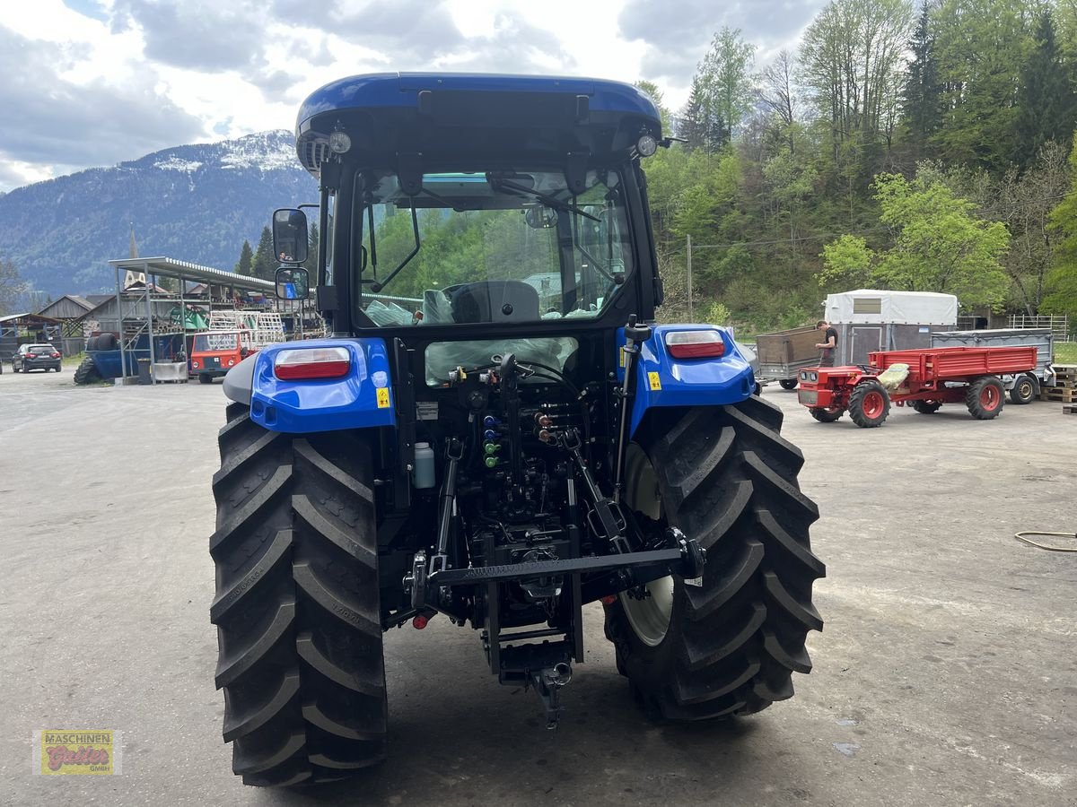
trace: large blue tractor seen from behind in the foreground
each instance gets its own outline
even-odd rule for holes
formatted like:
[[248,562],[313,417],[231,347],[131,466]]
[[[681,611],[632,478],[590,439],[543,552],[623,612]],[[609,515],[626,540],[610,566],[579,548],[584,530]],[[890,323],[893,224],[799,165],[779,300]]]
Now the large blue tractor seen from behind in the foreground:
[[588,603],[657,719],[756,712],[811,668],[801,454],[728,331],[654,324],[641,160],[669,144],[606,81],[360,75],[304,102],[322,238],[311,278],[307,216],[275,212],[278,294],[331,336],[229,371],[213,478],[244,782],[381,761],[382,634],[435,615],[550,727]]

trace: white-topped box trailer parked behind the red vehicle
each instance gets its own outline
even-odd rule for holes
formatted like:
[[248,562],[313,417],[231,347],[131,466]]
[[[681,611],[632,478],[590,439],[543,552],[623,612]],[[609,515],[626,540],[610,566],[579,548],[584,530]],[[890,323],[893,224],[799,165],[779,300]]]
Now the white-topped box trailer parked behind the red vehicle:
[[932,346],[957,325],[957,298],[935,292],[857,288],[826,296],[823,318],[838,331],[836,365],[865,365],[872,351]]

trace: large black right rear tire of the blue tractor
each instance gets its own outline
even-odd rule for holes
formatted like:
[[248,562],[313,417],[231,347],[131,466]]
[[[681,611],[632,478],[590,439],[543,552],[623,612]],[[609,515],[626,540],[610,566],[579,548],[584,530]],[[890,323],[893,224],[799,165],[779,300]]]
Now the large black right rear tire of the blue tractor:
[[[797,484],[801,453],[759,398],[655,413],[627,455],[626,502],[707,550],[701,583],[656,580],[605,607],[617,668],[652,716],[695,721],[751,714],[793,695],[808,672],[811,601],[825,566]],[[642,595],[642,596],[641,596]]]

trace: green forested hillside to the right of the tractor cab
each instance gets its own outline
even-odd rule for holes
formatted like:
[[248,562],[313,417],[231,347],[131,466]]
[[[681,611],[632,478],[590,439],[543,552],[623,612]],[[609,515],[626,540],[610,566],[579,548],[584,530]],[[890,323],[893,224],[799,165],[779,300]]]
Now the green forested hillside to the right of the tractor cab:
[[718,31],[644,161],[663,318],[690,242],[695,317],[749,332],[861,286],[1077,321],[1075,86],[1074,0],[834,0],[766,63]]

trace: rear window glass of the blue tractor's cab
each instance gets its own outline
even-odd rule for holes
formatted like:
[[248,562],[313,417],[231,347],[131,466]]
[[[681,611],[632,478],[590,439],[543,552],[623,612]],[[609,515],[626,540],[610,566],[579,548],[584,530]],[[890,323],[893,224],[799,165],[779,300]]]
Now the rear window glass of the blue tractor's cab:
[[392,173],[358,182],[356,297],[375,325],[596,317],[631,275],[616,171],[588,172],[575,196],[560,170],[424,174],[414,197]]

